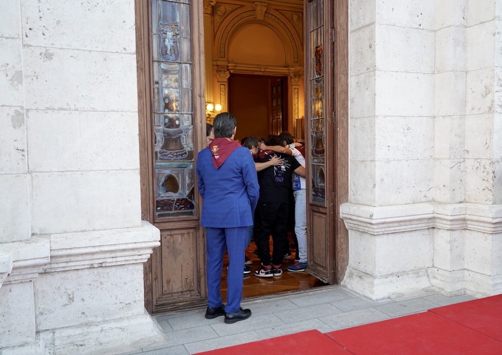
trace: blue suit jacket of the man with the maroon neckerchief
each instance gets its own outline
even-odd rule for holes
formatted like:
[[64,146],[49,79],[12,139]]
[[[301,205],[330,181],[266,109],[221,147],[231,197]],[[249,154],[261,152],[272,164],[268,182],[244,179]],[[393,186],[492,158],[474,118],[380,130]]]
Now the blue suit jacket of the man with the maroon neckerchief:
[[204,199],[200,225],[233,228],[253,225],[258,203],[258,177],[249,149],[238,147],[218,169],[205,148],[197,155],[197,182]]

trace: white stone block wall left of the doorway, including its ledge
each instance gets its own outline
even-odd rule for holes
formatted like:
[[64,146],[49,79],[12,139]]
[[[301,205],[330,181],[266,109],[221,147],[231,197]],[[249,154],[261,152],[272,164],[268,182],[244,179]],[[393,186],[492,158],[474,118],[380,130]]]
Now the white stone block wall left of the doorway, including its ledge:
[[0,7],[0,348],[158,340],[143,306],[160,235],[141,221],[134,1]]

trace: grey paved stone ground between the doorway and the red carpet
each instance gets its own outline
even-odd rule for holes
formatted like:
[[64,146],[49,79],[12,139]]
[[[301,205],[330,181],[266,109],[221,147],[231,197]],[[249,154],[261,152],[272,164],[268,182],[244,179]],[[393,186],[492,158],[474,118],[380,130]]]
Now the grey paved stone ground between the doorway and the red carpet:
[[253,315],[234,324],[225,324],[223,317],[204,318],[205,308],[157,315],[154,318],[168,342],[122,355],[187,355],[310,329],[325,333],[473,299],[467,295],[447,297],[424,292],[372,301],[344,286],[325,286],[315,291],[244,301],[242,307],[250,308]]

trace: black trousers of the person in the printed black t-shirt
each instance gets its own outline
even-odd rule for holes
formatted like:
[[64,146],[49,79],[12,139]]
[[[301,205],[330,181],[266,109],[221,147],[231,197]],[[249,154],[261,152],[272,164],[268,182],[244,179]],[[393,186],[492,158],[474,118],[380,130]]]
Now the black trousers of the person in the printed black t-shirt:
[[[260,260],[264,265],[281,265],[285,245],[288,240],[288,204],[287,203],[265,203],[258,204],[255,211],[255,243],[260,251]],[[269,238],[272,234],[274,250],[270,256]]]

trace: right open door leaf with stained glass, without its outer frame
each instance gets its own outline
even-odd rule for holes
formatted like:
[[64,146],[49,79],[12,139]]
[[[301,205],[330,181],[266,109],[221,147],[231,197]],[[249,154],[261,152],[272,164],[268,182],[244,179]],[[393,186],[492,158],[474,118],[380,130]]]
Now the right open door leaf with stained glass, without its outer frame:
[[326,283],[334,283],[334,240],[336,209],[334,149],[332,2],[309,0],[305,4],[308,29],[305,40],[306,67],[305,137],[307,179],[307,272]]

